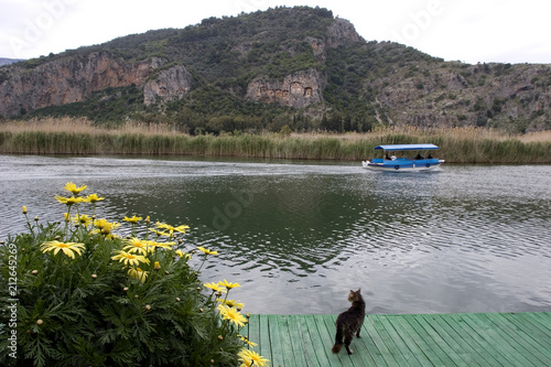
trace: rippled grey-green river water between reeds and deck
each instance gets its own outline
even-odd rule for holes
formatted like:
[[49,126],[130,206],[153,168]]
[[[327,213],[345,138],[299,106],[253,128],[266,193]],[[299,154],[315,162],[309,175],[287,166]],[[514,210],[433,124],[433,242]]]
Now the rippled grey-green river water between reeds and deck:
[[220,252],[202,280],[240,282],[247,312],[338,313],[357,288],[369,313],[551,311],[550,165],[0,155],[0,238],[22,205],[58,220],[68,181],[108,219],[190,225],[188,249]]

